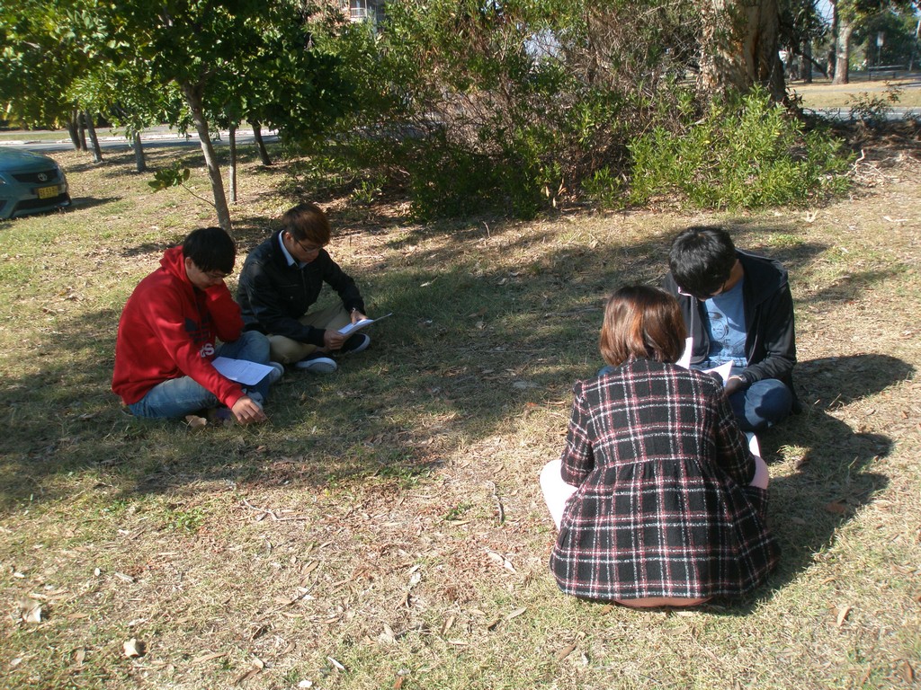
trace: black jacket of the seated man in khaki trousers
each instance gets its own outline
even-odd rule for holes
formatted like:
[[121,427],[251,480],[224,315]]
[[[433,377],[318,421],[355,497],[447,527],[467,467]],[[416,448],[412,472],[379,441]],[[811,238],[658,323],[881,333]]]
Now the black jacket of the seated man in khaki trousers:
[[239,274],[237,301],[246,330],[286,336],[298,342],[323,346],[323,329],[298,320],[316,303],[326,282],[342,298],[346,311],[365,312],[355,281],[346,275],[325,249],[304,268],[289,266],[277,231],[250,252]]

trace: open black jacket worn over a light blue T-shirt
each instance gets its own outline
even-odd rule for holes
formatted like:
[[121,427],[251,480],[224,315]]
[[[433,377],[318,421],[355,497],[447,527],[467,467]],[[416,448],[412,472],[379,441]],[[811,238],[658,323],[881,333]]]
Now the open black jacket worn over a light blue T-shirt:
[[[794,408],[799,408],[791,376],[797,362],[797,345],[787,270],[774,259],[738,250],[736,253],[745,271],[742,304],[745,309],[745,356],[749,362],[740,376],[746,385],[767,378],[783,381],[793,392]],[[694,339],[691,362],[702,362],[710,351],[704,303],[680,293],[671,273],[665,277],[663,287],[678,298],[688,336]]]

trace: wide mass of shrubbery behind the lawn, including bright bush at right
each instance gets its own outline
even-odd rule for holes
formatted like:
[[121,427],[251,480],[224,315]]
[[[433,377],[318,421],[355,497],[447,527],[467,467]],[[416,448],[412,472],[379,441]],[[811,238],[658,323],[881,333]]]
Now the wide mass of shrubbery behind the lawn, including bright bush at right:
[[666,0],[648,9],[430,0],[388,3],[379,32],[317,26],[359,107],[334,137],[347,165],[324,165],[315,181],[360,169],[373,183],[347,190],[355,201],[402,188],[422,220],[675,193],[752,207],[845,185],[834,139],[805,132],[766,94],[702,106],[682,86],[698,67],[700,13]]

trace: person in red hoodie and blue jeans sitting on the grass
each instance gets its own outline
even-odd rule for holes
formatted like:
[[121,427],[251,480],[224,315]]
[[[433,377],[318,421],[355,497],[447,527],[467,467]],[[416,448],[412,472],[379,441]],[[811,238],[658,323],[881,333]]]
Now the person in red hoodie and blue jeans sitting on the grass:
[[[160,259],[124,305],[115,341],[112,391],[137,417],[181,419],[226,405],[240,424],[265,420],[262,404],[284,368],[269,362],[269,341],[243,332],[224,279],[237,247],[219,227],[192,231]],[[218,339],[220,342],[218,342]],[[218,373],[216,356],[274,367],[257,385]]]

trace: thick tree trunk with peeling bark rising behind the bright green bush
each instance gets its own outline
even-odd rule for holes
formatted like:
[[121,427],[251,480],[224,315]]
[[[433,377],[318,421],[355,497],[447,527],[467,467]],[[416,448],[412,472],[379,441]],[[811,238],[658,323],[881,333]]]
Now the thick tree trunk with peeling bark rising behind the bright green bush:
[[708,93],[745,93],[764,86],[784,98],[784,65],[777,54],[777,0],[701,0],[701,85]]

